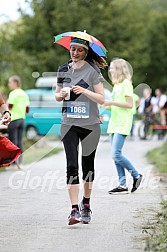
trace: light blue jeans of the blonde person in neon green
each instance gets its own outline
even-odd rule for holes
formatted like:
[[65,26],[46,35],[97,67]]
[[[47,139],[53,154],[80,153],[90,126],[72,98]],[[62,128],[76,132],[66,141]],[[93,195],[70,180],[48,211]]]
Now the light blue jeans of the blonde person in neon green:
[[136,171],[130,161],[122,155],[122,148],[125,139],[125,135],[121,135],[118,133],[114,133],[111,135],[112,158],[114,159],[115,166],[117,168],[120,186],[126,186],[125,169],[127,169],[128,172],[131,173],[133,178],[139,176],[139,173]]

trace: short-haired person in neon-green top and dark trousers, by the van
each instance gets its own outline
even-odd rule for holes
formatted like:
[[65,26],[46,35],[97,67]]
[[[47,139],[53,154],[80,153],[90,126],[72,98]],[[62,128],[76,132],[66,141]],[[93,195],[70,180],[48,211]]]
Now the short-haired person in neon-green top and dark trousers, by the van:
[[[29,111],[29,97],[21,89],[21,79],[19,76],[11,76],[8,86],[12,91],[9,94],[8,106],[11,112],[11,122],[8,126],[9,140],[18,146],[23,152],[23,131],[24,119]],[[22,159],[19,159],[19,164]]]

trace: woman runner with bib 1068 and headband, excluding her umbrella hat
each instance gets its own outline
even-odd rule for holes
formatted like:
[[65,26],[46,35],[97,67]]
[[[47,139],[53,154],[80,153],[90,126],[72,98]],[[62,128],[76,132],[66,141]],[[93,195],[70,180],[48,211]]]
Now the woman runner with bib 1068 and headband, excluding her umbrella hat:
[[[103,77],[99,67],[107,64],[89,48],[87,41],[74,38],[71,60],[58,70],[56,100],[63,101],[61,138],[67,159],[67,184],[72,205],[68,224],[89,223],[94,159],[100,138],[97,103],[104,103]],[[78,205],[78,145],[82,145],[83,199]]]

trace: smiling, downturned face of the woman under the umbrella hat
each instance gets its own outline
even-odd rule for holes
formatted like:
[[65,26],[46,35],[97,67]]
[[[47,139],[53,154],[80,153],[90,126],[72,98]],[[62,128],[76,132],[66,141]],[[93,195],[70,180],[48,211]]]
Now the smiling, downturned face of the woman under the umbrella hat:
[[71,46],[70,55],[73,62],[85,59],[86,52],[82,46]]

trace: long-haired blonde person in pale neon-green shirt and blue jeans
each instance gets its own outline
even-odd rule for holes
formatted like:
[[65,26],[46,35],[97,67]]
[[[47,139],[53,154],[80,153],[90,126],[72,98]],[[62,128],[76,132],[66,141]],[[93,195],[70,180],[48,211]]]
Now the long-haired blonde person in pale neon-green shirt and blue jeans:
[[109,194],[128,193],[126,186],[125,169],[133,177],[134,192],[139,187],[142,175],[138,173],[131,162],[122,155],[122,148],[126,136],[130,134],[133,120],[133,86],[128,63],[123,59],[115,59],[110,63],[109,73],[114,85],[111,100],[105,101],[105,105],[111,105],[112,114],[108,125],[108,133],[111,134],[112,158],[119,177],[119,186],[110,190]]

